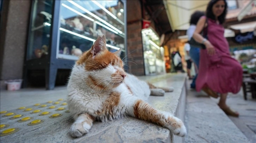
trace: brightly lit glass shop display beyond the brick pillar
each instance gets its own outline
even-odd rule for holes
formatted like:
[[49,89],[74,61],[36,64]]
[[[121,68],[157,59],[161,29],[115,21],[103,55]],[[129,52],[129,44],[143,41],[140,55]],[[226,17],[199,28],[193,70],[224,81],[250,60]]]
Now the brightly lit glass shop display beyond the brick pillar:
[[145,74],[165,73],[164,48],[158,46],[160,45],[158,34],[152,27],[143,29],[141,34]]

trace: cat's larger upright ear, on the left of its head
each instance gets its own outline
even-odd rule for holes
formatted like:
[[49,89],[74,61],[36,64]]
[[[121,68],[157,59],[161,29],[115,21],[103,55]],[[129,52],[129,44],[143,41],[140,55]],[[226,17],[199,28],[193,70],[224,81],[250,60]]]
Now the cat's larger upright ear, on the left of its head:
[[92,57],[94,58],[97,54],[99,54],[105,50],[107,50],[106,49],[106,38],[103,35],[102,37],[98,37],[97,40],[92,45],[92,47],[91,47],[91,53],[93,54]]

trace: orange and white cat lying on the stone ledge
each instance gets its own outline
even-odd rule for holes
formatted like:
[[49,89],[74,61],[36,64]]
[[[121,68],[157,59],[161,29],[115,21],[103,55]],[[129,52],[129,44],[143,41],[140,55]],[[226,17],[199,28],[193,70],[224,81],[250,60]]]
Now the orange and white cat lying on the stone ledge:
[[68,108],[75,119],[71,136],[86,134],[94,121],[124,116],[157,123],[173,134],[185,136],[187,131],[180,119],[145,102],[150,95],[163,96],[173,89],[157,88],[124,72],[120,53],[109,52],[102,36],[74,65],[67,86]]

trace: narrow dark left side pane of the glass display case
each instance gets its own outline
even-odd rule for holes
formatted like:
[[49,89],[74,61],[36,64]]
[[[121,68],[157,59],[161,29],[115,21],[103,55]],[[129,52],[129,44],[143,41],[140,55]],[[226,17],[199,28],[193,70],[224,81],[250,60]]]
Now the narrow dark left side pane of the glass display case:
[[26,59],[38,59],[48,56],[53,0],[33,0],[31,9],[31,22],[28,37],[28,50]]

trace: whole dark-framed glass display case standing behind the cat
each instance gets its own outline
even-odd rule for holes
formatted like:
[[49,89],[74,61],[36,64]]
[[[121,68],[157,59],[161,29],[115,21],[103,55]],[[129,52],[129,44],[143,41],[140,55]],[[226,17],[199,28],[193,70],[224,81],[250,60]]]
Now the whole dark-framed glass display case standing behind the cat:
[[[57,71],[75,61],[102,35],[110,52],[126,58],[126,1],[32,0],[24,87],[32,70],[43,70],[46,89],[54,89]],[[124,63],[126,64],[126,63]],[[59,72],[59,71],[58,71]]]

